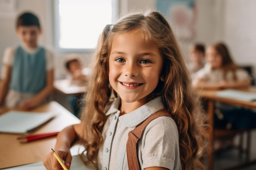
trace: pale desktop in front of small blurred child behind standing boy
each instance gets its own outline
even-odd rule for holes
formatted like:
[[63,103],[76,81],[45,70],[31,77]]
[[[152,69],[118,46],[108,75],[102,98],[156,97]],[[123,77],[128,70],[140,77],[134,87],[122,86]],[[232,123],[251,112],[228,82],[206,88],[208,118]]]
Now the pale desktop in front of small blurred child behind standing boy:
[[77,95],[87,91],[85,85],[73,84],[71,79],[54,80],[54,89],[64,95]]

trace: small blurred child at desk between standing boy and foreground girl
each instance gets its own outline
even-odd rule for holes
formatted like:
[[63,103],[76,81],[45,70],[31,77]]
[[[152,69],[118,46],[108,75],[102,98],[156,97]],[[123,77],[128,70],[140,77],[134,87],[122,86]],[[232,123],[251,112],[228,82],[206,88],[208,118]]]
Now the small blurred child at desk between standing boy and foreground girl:
[[[65,67],[68,73],[71,75],[71,84],[76,86],[85,85],[88,83],[90,71],[88,68],[83,68],[79,54],[70,54],[66,57]],[[69,101],[73,110],[73,114],[76,117],[80,117],[79,113],[83,107],[83,94],[72,95],[69,97]]]

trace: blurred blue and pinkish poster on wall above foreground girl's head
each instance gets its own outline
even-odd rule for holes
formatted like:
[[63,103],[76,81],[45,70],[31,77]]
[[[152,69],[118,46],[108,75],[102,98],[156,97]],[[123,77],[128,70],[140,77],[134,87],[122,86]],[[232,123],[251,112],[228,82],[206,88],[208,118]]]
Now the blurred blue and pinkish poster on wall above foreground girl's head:
[[156,0],[156,7],[166,17],[179,40],[195,38],[195,0]]

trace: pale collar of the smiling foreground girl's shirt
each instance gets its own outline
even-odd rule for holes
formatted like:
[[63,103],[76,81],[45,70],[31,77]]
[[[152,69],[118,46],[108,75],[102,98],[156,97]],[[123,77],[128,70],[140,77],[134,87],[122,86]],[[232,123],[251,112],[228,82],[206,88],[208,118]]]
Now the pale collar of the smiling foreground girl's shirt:
[[[111,113],[115,113],[118,111],[121,99],[116,98],[112,105],[110,106],[106,115],[110,115]],[[164,109],[164,105],[161,97],[156,97],[150,102],[144,104],[143,106],[137,108],[136,110],[120,116],[118,119],[123,123],[126,127],[134,127],[141,124],[148,117],[153,115],[153,113]]]

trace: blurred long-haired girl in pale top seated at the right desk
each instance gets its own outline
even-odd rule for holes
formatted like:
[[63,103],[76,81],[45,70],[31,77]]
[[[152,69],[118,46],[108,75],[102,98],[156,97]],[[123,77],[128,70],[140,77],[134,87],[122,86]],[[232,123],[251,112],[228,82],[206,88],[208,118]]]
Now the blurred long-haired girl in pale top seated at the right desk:
[[[196,74],[195,88],[227,89],[248,88],[250,79],[248,73],[236,66],[231,59],[227,46],[216,43],[207,48],[206,59],[209,67]],[[231,106],[221,102],[215,103],[214,126],[223,129],[256,128],[256,112],[253,110]],[[228,142],[230,143],[230,141]],[[216,149],[221,148],[218,144]]]

